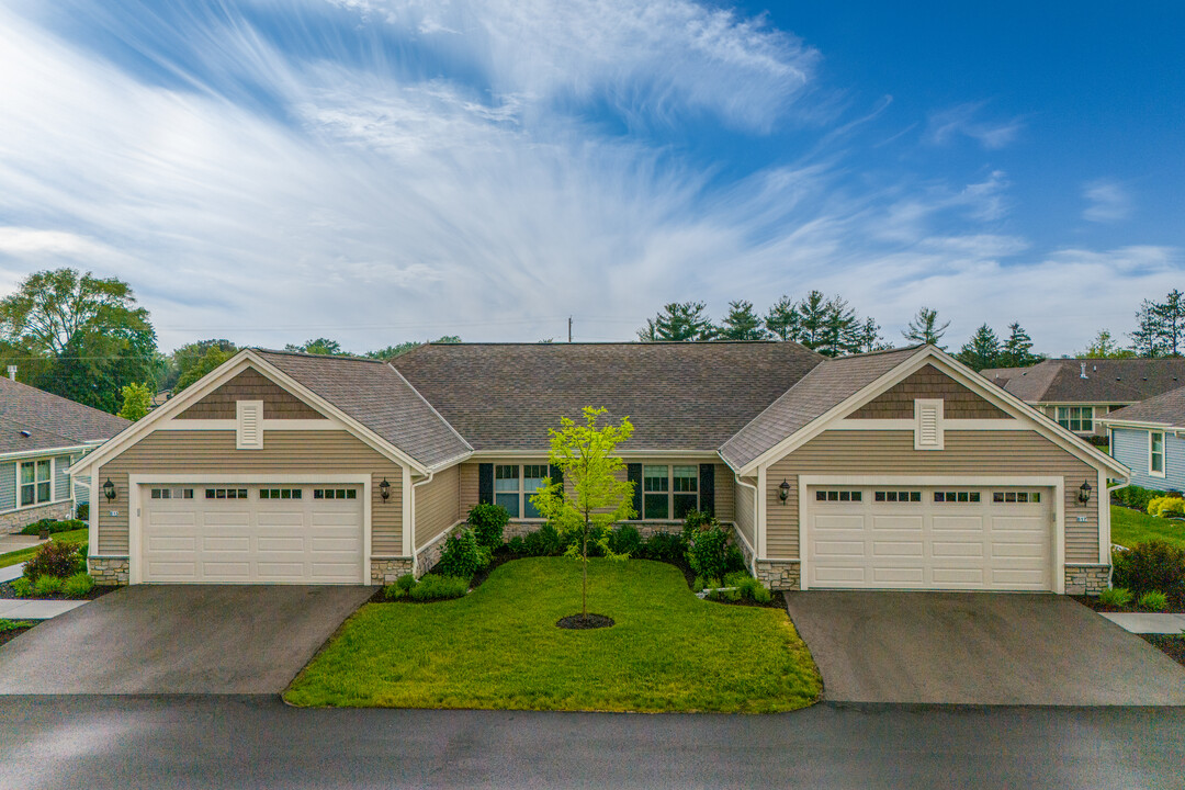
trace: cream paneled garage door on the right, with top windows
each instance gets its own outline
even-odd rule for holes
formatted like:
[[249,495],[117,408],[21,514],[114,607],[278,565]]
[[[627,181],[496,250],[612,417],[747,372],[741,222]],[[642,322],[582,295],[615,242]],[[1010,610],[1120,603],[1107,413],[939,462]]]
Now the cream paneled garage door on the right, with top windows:
[[1053,490],[807,490],[811,587],[1050,590]]

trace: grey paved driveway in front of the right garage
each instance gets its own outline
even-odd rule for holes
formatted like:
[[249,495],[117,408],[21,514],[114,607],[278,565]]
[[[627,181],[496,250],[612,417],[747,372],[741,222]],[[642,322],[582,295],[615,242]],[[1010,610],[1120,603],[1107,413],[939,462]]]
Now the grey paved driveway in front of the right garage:
[[786,595],[824,699],[963,705],[1185,705],[1185,668],[1064,596]]

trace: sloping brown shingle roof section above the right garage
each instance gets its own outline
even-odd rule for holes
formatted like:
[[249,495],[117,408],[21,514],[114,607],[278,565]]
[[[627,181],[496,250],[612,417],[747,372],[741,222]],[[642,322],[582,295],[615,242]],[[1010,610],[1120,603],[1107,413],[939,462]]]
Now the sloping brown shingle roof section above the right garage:
[[826,360],[729,438],[720,456],[741,469],[923,349],[912,346]]

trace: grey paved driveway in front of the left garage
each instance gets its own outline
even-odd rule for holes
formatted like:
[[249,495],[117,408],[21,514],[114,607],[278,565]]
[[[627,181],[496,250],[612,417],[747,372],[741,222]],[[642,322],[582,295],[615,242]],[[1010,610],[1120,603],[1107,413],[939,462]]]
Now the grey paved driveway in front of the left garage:
[[364,586],[136,585],[0,646],[0,694],[268,694]]

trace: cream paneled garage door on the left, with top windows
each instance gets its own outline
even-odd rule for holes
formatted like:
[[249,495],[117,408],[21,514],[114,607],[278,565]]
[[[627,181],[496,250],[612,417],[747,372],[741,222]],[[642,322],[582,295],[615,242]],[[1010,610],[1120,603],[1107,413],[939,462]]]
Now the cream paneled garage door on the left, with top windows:
[[360,486],[142,486],[140,578],[360,584]]

